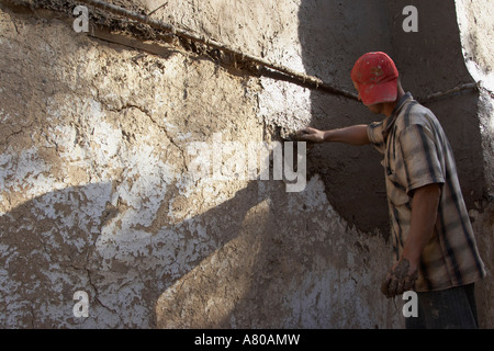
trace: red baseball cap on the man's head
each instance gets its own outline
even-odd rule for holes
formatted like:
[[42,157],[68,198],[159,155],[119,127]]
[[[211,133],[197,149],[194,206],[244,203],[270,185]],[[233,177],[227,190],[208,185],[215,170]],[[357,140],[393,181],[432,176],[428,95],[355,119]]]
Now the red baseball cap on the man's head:
[[396,101],[397,78],[393,60],[381,52],[361,56],[351,70],[351,80],[364,105]]

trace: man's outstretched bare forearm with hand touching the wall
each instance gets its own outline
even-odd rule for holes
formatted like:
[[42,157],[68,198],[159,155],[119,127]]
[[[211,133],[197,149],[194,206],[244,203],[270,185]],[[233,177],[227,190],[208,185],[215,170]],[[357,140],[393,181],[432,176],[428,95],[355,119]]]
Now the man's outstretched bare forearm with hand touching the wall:
[[370,144],[367,135],[367,125],[353,125],[350,127],[333,131],[318,131],[315,128],[305,128],[296,134],[301,141],[312,143],[343,143],[349,145]]

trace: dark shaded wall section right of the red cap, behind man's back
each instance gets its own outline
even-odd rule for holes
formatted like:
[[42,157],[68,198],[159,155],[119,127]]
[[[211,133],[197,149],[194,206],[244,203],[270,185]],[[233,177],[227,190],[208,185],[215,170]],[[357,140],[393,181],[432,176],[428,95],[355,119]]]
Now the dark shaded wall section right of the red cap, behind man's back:
[[[413,4],[418,11],[418,32],[405,33],[402,11]],[[472,83],[461,48],[454,1],[388,1],[393,22],[393,56],[402,83],[419,101],[433,93]],[[440,121],[457,161],[469,210],[485,199],[486,182],[479,121],[479,92],[468,90],[424,103]]]

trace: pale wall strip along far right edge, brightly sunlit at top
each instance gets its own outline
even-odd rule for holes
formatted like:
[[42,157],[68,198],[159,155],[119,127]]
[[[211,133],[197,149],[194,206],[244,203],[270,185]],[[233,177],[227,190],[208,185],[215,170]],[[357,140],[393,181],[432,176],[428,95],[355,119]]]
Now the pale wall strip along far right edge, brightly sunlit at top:
[[[462,54],[470,76],[479,86],[476,105],[484,171],[484,195],[471,207],[470,216],[481,240],[480,250],[492,276],[494,257],[494,10],[487,1],[456,1]],[[479,309],[485,326],[492,328],[494,280],[486,279],[478,288]]]

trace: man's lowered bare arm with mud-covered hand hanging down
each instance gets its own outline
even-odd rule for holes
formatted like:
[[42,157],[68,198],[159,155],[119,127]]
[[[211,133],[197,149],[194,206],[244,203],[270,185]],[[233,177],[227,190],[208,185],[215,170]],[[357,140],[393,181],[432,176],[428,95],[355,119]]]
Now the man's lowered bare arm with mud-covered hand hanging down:
[[422,252],[434,234],[441,189],[429,184],[415,190],[412,200],[412,222],[402,258],[393,265],[381,285],[386,297],[412,290],[418,274]]

